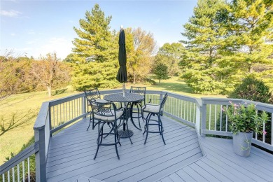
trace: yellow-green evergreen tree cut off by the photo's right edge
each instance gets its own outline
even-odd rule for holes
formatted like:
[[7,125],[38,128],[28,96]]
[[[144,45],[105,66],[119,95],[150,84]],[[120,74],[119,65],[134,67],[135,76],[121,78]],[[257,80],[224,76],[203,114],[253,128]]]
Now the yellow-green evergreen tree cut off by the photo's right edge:
[[[230,19],[227,38],[230,54],[236,57],[235,65],[248,76],[255,73],[258,78],[272,83],[273,6],[272,1],[234,0],[230,3]],[[271,64],[271,65],[270,65]]]

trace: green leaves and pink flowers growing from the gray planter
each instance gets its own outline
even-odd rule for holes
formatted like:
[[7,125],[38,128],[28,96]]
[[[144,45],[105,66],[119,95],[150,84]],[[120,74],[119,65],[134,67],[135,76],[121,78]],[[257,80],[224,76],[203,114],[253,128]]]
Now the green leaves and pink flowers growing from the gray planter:
[[254,104],[249,104],[248,106],[237,105],[232,102],[230,104],[231,106],[228,106],[228,109],[224,107],[223,110],[231,122],[230,127],[233,134],[252,131],[262,134],[263,124],[269,119],[265,111],[259,114],[256,112]]

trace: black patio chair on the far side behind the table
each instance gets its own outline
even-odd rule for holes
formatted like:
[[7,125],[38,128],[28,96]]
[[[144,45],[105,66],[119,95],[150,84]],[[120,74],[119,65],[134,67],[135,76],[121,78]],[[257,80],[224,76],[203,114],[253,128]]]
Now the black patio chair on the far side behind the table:
[[[141,100],[140,102],[132,102],[131,105],[131,118],[132,118],[132,122],[134,124],[134,120],[133,118],[138,118],[139,120],[139,128],[141,127],[140,125],[140,118],[143,118],[141,115],[141,108],[142,106],[144,106],[146,104],[145,99],[146,99],[146,87],[133,87],[131,86],[130,89],[130,93],[134,93],[134,94],[142,94],[144,96],[144,99]],[[144,104],[142,104],[144,103]],[[137,107],[137,111],[134,111],[134,106]],[[134,113],[137,113],[137,116],[134,116]]]

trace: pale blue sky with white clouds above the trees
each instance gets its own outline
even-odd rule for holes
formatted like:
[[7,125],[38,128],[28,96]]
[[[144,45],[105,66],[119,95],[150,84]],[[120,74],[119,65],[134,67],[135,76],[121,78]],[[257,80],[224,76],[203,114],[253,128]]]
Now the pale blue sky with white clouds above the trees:
[[106,16],[112,16],[111,30],[132,27],[151,32],[158,48],[164,43],[179,42],[183,25],[193,15],[197,0],[127,0],[127,1],[71,1],[71,0],[1,0],[0,55],[13,50],[13,55],[38,59],[56,52],[64,59],[73,48],[78,35],[79,20],[98,3]]

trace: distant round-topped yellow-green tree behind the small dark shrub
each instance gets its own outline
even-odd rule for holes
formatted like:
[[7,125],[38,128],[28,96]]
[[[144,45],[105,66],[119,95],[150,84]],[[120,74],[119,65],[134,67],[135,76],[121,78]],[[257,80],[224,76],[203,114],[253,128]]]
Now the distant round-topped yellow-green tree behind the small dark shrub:
[[155,56],[155,62],[162,62],[167,64],[168,73],[170,76],[177,76],[181,73],[179,62],[184,47],[181,43],[165,43]]

